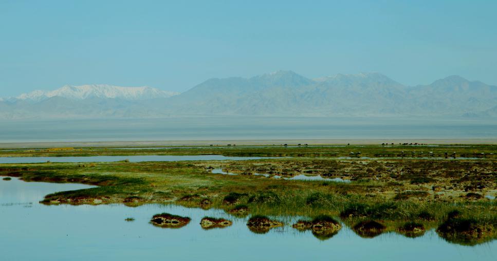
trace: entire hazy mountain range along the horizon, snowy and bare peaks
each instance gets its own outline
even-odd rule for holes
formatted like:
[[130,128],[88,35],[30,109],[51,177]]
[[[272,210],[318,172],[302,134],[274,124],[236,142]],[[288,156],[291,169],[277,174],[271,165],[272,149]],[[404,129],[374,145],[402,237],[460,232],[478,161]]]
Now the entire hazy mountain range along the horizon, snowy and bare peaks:
[[380,73],[309,79],[277,71],[209,79],[181,94],[151,87],[66,85],[0,99],[0,119],[188,115],[497,117],[497,86],[459,76],[405,86]]

